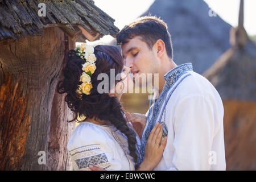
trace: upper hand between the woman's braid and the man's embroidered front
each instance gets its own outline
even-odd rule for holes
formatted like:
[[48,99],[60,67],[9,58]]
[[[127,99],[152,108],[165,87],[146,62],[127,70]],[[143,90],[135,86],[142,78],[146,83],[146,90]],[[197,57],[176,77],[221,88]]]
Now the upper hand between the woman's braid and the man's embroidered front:
[[139,138],[142,137],[144,127],[146,126],[147,117],[144,114],[139,113],[128,113],[126,112],[126,117],[128,122],[131,122],[131,125],[133,125],[134,130],[139,135]]

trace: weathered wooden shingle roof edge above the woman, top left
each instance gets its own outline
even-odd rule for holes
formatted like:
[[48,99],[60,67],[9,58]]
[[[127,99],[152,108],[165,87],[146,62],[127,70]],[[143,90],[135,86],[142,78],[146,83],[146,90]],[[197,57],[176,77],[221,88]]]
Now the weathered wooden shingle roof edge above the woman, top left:
[[[46,17],[38,15],[41,2],[46,4]],[[42,34],[42,28],[55,26],[68,34],[89,32],[93,36],[98,34],[98,38],[115,36],[119,31],[114,19],[92,0],[0,0],[0,41],[18,39],[20,35],[35,36]]]

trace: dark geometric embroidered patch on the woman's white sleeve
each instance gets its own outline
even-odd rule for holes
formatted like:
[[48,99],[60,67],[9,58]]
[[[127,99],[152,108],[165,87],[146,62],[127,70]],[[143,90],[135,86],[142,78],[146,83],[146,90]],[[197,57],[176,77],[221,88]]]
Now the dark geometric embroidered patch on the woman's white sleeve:
[[105,153],[89,156],[87,158],[77,159],[75,160],[77,166],[79,169],[86,168],[89,166],[89,164],[97,165],[102,163],[109,162],[107,156]]

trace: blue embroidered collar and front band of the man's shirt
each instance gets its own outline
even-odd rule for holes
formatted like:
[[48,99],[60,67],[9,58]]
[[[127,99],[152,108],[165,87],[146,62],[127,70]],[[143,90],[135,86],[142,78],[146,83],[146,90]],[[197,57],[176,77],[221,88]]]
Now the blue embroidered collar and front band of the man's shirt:
[[[158,100],[156,100],[155,105],[153,107],[151,107],[150,111],[148,111],[148,117],[147,117],[147,122],[148,126],[146,131],[144,132],[142,139],[141,139],[141,154],[142,154],[142,158],[139,160],[138,164],[141,164],[143,159],[144,159],[144,150],[146,147],[146,143],[147,143],[147,138],[150,135],[151,130],[153,129],[153,127],[155,126],[155,122],[156,119],[158,118],[158,115],[160,114],[159,117],[159,121],[161,121],[162,116],[163,116],[163,111],[166,107],[166,104],[168,102],[168,100],[170,99],[172,93],[174,92],[174,90],[176,89],[176,87],[180,84],[181,81],[184,80],[185,77],[191,75],[189,74],[187,71],[192,71],[192,64],[191,63],[185,63],[185,64],[181,64],[178,67],[172,69],[171,71],[169,71],[168,73],[166,73],[166,75],[164,75],[164,79],[166,80],[166,84],[164,84],[163,90],[160,93]],[[187,74],[187,75],[185,75]],[[185,75],[185,76],[184,76]],[[181,80],[179,80],[179,78],[181,76],[184,76],[183,78],[181,78]],[[177,80],[179,80],[179,82],[177,82]],[[176,86],[174,88],[172,88],[175,83],[177,82]],[[170,89],[172,89],[170,91]],[[170,91],[170,94],[167,96],[167,93]],[[160,113],[160,108],[163,107],[162,112]],[[152,113],[152,117],[150,119],[150,115]],[[164,126],[165,129],[167,129],[166,126]]]

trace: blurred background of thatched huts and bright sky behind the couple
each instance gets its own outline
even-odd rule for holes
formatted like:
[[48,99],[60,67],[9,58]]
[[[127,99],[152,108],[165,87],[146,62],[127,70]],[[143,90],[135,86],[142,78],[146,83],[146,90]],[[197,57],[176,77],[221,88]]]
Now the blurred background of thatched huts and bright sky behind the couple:
[[[143,15],[168,24],[176,64],[191,62],[224,103],[227,170],[256,169],[256,1],[94,0],[120,30]],[[92,44],[115,44],[104,36]],[[123,94],[130,113],[146,113],[148,94]]]

